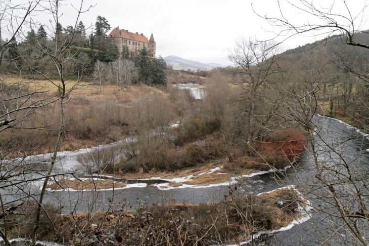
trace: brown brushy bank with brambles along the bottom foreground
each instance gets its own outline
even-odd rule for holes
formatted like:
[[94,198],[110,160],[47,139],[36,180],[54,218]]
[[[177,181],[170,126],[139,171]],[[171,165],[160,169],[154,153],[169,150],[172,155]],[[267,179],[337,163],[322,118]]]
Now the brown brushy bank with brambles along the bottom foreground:
[[[230,189],[229,197],[214,204],[172,203],[145,207],[137,199],[136,204],[132,204],[133,210],[123,201],[116,210],[108,213],[57,216],[54,212],[50,214],[56,218],[54,222],[42,218],[39,239],[78,245],[98,242],[135,245],[143,240],[148,245],[164,242],[170,245],[239,243],[250,239],[255,232],[279,229],[301,217],[296,210],[298,200],[293,190],[243,196],[238,194],[238,187]],[[29,216],[32,216],[32,208],[28,209]],[[51,212],[52,208],[48,210]],[[10,222],[14,219],[15,216],[9,217]],[[10,234],[26,236],[30,228],[18,225],[19,221],[9,226]]]

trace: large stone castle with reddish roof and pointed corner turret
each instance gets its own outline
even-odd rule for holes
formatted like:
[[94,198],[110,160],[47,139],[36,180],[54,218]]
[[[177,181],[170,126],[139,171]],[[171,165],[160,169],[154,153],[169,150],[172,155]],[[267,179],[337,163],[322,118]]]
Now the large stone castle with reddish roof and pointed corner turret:
[[123,45],[126,45],[133,52],[145,47],[149,51],[150,57],[155,58],[156,42],[152,33],[150,39],[148,39],[144,36],[144,33],[129,32],[128,30],[119,29],[118,26],[109,33],[108,37],[114,40],[114,44],[118,47],[119,52],[122,52]]

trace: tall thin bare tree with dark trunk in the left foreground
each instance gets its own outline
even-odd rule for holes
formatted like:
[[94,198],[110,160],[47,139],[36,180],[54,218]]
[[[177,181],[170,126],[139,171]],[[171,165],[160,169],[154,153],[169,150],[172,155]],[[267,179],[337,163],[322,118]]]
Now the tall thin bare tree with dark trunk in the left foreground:
[[[10,2],[9,2],[10,4]],[[34,27],[37,25],[37,23],[33,23],[32,19],[28,19],[30,15],[30,11],[34,3],[30,2],[29,5],[27,5],[27,11],[24,14],[24,18],[22,19],[21,25],[25,23],[25,20],[28,20],[28,24],[30,27]],[[52,24],[56,24],[58,26],[59,18],[61,16],[60,8],[62,6],[61,1],[55,0],[55,1],[47,1],[44,3],[36,2],[38,10],[41,11],[42,14],[50,14],[52,19]],[[9,8],[10,5],[6,5],[7,8]],[[22,6],[16,6],[13,11],[16,11],[17,8],[22,8]],[[74,25],[73,30],[75,30],[75,27],[78,23],[79,15],[85,11],[88,11],[90,7],[83,8],[83,0],[80,2],[80,6],[78,8],[75,8],[76,10],[76,22]],[[18,15],[15,13],[12,13],[13,16],[10,18],[16,18]],[[11,19],[12,20],[12,19]],[[8,26],[8,30],[14,30],[12,29],[14,26],[13,24],[17,23],[16,21],[10,23],[10,26]],[[4,82],[4,86],[2,89],[2,92],[7,92],[9,90],[12,90],[13,93],[10,94],[11,96],[8,98],[2,98],[2,103],[5,105],[5,111],[2,112],[4,116],[8,116],[7,119],[4,119],[2,121],[2,130],[4,131],[7,128],[15,128],[17,124],[21,123],[22,120],[27,119],[26,116],[29,113],[34,112],[35,109],[44,107],[45,105],[50,105],[54,102],[59,102],[60,105],[60,115],[59,115],[59,128],[58,129],[49,129],[51,131],[56,131],[57,134],[57,140],[54,147],[54,152],[51,156],[51,162],[48,167],[44,167],[43,169],[40,168],[29,168],[34,165],[34,163],[28,163],[26,161],[26,158],[11,160],[11,161],[2,161],[2,177],[5,178],[4,182],[10,182],[10,184],[4,184],[2,185],[3,188],[10,187],[13,188],[13,192],[18,193],[24,193],[26,197],[30,197],[36,202],[36,212],[35,212],[35,221],[34,221],[34,227],[32,228],[31,232],[31,238],[32,238],[32,245],[35,245],[36,242],[36,236],[37,236],[37,230],[40,226],[40,219],[41,219],[41,211],[43,210],[45,213],[47,213],[43,206],[43,198],[45,195],[45,191],[47,189],[48,182],[50,180],[50,177],[55,176],[56,174],[53,173],[54,165],[57,161],[57,152],[59,150],[61,138],[64,132],[64,107],[65,103],[68,102],[68,100],[73,95],[73,92],[79,87],[80,82],[82,81],[83,77],[83,71],[86,68],[87,64],[90,62],[89,59],[81,59],[80,61],[84,62],[80,66],[74,66],[72,64],[75,63],[77,55],[72,53],[69,49],[69,46],[72,42],[72,40],[68,40],[65,38],[62,33],[57,32],[55,33],[55,36],[53,39],[48,38],[32,38],[32,36],[27,35],[23,32],[23,29],[21,28],[21,25],[18,26],[15,31],[13,32],[12,41],[17,37],[18,39],[22,40],[27,45],[32,46],[33,49],[36,49],[38,52],[42,54],[42,57],[44,60],[48,60],[53,64],[54,72],[58,75],[58,80],[54,80],[49,76],[49,73],[44,72],[43,70],[40,70],[36,66],[33,66],[33,61],[29,60],[28,57],[25,55],[24,50],[21,49],[19,46],[14,46],[12,49],[14,49],[17,54],[17,60],[22,62],[23,67],[28,67],[29,71],[32,71],[34,74],[37,74],[38,76],[43,77],[43,79],[47,80],[48,83],[55,86],[58,93],[51,95],[51,97],[47,95],[41,95],[40,97],[32,98],[34,95],[38,95],[40,93],[46,92],[47,90],[39,90],[39,88],[33,89],[33,91],[24,92],[24,90],[21,90],[28,86],[30,87],[30,84],[28,82],[28,85],[25,83],[25,81],[22,78],[22,70],[19,68],[20,73],[20,79],[23,82],[23,84],[17,84],[16,87],[14,87],[14,84],[9,86],[7,82]],[[72,36],[74,33],[72,33]],[[8,43],[5,43],[5,45],[9,45]],[[2,47],[3,49],[3,47]],[[4,53],[4,50],[2,50],[2,54]],[[72,87],[68,88],[66,87],[67,81],[71,80],[72,76],[77,75],[77,80],[75,81],[75,84],[72,85]],[[18,116],[17,113],[22,112],[22,115]],[[25,112],[25,113],[24,113]],[[13,122],[13,124],[10,124]],[[27,127],[18,127],[18,128],[27,128]],[[34,128],[31,128],[34,129]],[[47,126],[37,128],[40,130],[48,130]],[[40,143],[42,144],[42,143]],[[11,173],[8,171],[12,170]],[[8,170],[8,171],[6,171]],[[33,174],[32,174],[33,173]],[[26,175],[26,176],[25,176]],[[27,176],[28,175],[28,176]],[[20,180],[20,181],[19,181]],[[25,186],[26,184],[31,184],[35,180],[41,181],[41,189],[40,192],[38,190],[35,191],[31,188],[27,188]],[[11,185],[11,186],[9,186]],[[14,194],[14,193],[13,193]],[[2,200],[2,208],[4,211],[4,202]],[[4,216],[5,218],[5,216]],[[49,217],[50,219],[50,217]],[[6,223],[4,223],[5,231],[7,230]],[[5,241],[7,241],[7,235],[6,233],[2,233],[1,235]]]

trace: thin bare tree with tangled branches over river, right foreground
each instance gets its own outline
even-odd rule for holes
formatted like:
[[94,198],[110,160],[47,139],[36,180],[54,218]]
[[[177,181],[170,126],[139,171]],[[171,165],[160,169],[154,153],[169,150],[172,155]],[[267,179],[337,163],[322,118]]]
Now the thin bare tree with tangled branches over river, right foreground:
[[[283,76],[282,87],[269,88],[280,99],[283,110],[278,112],[278,116],[284,119],[283,125],[304,129],[308,147],[303,170],[309,178],[300,176],[301,171],[296,169],[295,179],[286,177],[287,181],[282,182],[298,185],[312,201],[315,211],[312,220],[317,227],[310,230],[312,233],[319,230],[316,235],[322,244],[342,243],[344,240],[348,244],[366,245],[368,190],[367,171],[362,169],[365,137],[317,114],[324,113],[318,95],[320,81],[327,79],[317,54],[306,59],[301,67],[291,66],[290,69],[286,73],[293,75]],[[321,218],[332,223],[321,224]]]

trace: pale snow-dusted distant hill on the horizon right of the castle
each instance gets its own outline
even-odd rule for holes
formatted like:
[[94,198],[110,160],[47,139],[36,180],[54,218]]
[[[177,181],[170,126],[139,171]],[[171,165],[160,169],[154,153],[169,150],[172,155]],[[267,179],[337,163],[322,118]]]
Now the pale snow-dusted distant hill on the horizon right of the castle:
[[216,67],[223,67],[224,65],[216,63],[202,63],[193,60],[187,60],[178,56],[167,56],[163,58],[167,65],[172,65],[174,70],[212,70]]

